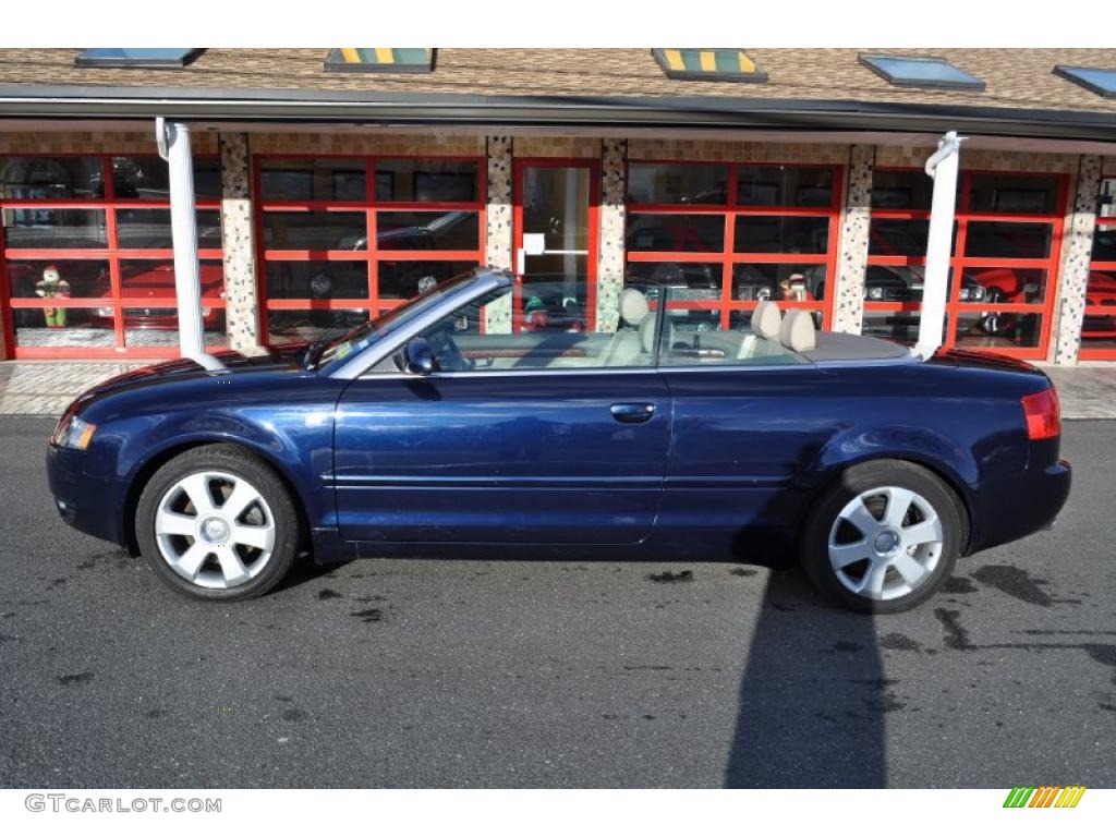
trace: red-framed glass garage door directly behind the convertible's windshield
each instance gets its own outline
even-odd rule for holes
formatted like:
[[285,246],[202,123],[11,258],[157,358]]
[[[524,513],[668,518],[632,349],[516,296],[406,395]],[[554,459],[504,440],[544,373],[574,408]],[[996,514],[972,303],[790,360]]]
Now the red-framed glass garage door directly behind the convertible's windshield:
[[336,336],[484,260],[478,157],[261,157],[270,343]]

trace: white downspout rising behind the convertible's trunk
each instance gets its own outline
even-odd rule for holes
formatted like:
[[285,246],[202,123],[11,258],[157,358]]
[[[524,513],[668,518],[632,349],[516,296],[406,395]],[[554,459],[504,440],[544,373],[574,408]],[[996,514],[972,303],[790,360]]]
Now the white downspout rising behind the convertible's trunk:
[[[914,353],[924,360],[942,345],[942,323],[950,287],[950,250],[953,241],[953,215],[956,210],[958,169],[961,143],[968,137],[951,131],[937,142],[926,161],[926,174],[934,181],[930,205],[930,232],[926,241],[926,276],[922,289],[922,316],[918,343]],[[955,277],[961,281],[961,277]]]

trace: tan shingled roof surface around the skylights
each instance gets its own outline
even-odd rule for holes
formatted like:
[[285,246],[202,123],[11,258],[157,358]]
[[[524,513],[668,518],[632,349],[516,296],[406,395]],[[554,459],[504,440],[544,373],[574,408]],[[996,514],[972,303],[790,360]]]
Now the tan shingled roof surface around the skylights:
[[[1055,65],[1116,68],[1116,49],[748,49],[768,76],[751,84],[667,78],[651,49],[439,49],[429,74],[328,73],[324,48],[211,47],[176,69],[77,67],[80,51],[0,49],[0,115],[89,116],[93,99],[144,99],[146,110],[99,106],[122,118],[189,100],[179,112],[183,118],[405,121],[426,106],[427,122],[435,123],[619,124],[609,114],[638,112],[639,124],[655,124],[660,115],[702,126],[767,119],[793,128],[914,129],[922,119],[923,129],[936,129],[956,114],[960,129],[1014,134],[1059,123],[1057,133],[1030,134],[1116,142],[1116,99],[1052,71]],[[898,87],[858,62],[860,52],[944,58],[985,89]],[[66,110],[64,102],[78,104]],[[260,107],[252,110],[252,102]],[[206,103],[221,104],[206,109]],[[311,105],[318,109],[311,113]],[[532,110],[525,115],[527,107]],[[782,114],[781,121],[771,114]],[[989,119],[1001,121],[1002,129]]]

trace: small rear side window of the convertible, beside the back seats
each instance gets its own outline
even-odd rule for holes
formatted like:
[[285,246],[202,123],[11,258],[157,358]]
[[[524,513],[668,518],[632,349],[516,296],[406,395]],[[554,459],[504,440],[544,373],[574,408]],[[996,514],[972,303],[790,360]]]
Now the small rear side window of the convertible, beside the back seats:
[[771,366],[804,364],[806,358],[791,352],[776,337],[764,337],[752,329],[752,312],[732,311],[729,327],[721,327],[719,310],[685,307],[675,302],[667,308],[661,336],[660,366]]

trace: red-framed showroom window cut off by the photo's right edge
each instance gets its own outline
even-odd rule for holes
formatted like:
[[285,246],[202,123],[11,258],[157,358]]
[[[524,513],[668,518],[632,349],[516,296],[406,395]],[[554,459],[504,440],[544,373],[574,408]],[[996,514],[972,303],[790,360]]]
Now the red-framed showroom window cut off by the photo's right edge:
[[1100,182],[1093,263],[1085,291],[1081,359],[1116,360],[1116,177]]

